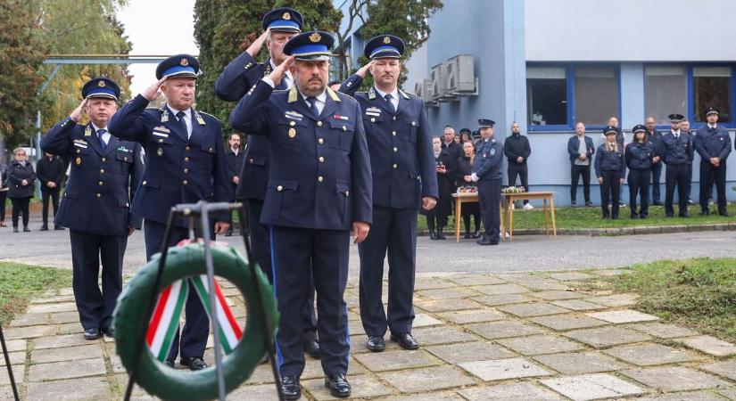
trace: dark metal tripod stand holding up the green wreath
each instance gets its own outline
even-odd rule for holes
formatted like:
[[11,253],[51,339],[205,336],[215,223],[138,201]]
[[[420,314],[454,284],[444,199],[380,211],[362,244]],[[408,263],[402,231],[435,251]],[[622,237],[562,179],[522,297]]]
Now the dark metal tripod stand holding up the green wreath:
[[[163,236],[163,241],[161,242],[161,258],[159,258],[159,266],[158,271],[156,273],[156,278],[153,282],[153,291],[151,292],[151,297],[148,299],[148,306],[147,306],[147,312],[145,316],[150,316],[153,314],[153,307],[155,307],[155,302],[157,299],[157,296],[159,292],[161,292],[161,289],[159,288],[161,286],[161,276],[163,275],[163,266],[166,265],[166,256],[169,251],[169,241],[171,238],[171,230],[174,227],[174,223],[177,221],[178,217],[186,217],[189,220],[189,237],[194,240],[194,224],[195,224],[195,217],[200,217],[197,223],[199,223],[198,228],[200,229],[203,241],[204,241],[204,263],[207,267],[207,279],[208,279],[208,285],[211,289],[210,291],[210,315],[211,315],[211,328],[214,333],[216,333],[213,338],[215,342],[215,368],[217,369],[217,379],[218,379],[218,390],[219,390],[219,400],[225,401],[225,379],[223,377],[222,373],[222,348],[219,343],[219,336],[217,335],[218,332],[218,321],[217,321],[217,304],[215,302],[215,291],[213,290],[215,288],[214,282],[215,282],[215,274],[214,274],[214,266],[212,265],[212,255],[211,255],[211,238],[210,238],[210,214],[211,213],[231,213],[232,210],[237,210],[238,220],[240,223],[240,233],[243,235],[243,242],[245,245],[245,255],[248,258],[248,264],[250,266],[251,270],[251,279],[255,285],[256,289],[256,301],[254,302],[254,305],[252,305],[253,308],[260,308],[261,312],[261,318],[262,318],[262,324],[263,327],[266,329],[263,333],[264,340],[266,343],[266,348],[269,356],[269,361],[271,364],[271,370],[273,372],[274,376],[274,382],[276,383],[277,387],[277,393],[278,393],[278,399],[284,400],[284,394],[281,390],[279,379],[279,373],[278,373],[278,366],[276,361],[276,352],[274,348],[274,342],[273,339],[270,336],[270,333],[273,332],[273,328],[269,325],[269,319],[267,318],[267,312],[266,312],[266,306],[262,302],[262,295],[260,292],[260,285],[258,285],[257,281],[257,275],[255,272],[256,266],[255,266],[255,259],[252,257],[252,251],[251,251],[251,244],[248,241],[248,237],[246,236],[245,232],[245,222],[247,221],[245,219],[246,210],[243,203],[227,203],[227,202],[218,202],[218,203],[208,203],[206,201],[198,201],[197,203],[189,203],[189,204],[180,204],[173,208],[171,208],[170,214],[169,214],[169,221],[166,224],[166,232]],[[136,346],[136,354],[133,358],[133,368],[129,372],[129,379],[128,379],[128,388],[125,391],[125,397],[123,398],[125,401],[128,401],[130,399],[133,385],[136,382],[136,372],[137,372],[137,366],[140,364],[140,358],[142,353],[144,352],[144,346],[145,346],[145,332],[148,330],[148,324],[144,321],[141,323],[140,327],[140,337],[137,340],[137,346]],[[4,345],[4,344],[3,344]],[[5,356],[7,359],[7,356]],[[10,364],[8,364],[10,366]],[[14,389],[14,387],[13,387]],[[16,396],[16,399],[17,396]]]

